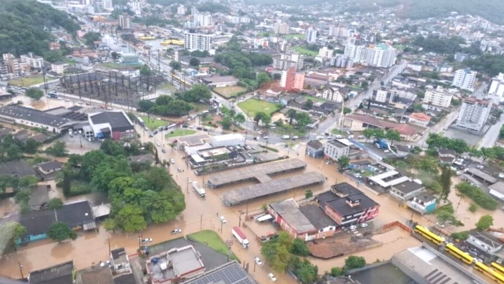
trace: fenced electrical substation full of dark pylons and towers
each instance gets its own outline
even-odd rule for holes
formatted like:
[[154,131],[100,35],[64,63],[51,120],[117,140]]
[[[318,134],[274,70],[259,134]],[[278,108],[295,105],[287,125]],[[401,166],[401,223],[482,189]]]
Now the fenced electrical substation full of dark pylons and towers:
[[137,72],[135,70],[128,76],[112,70],[68,75],[59,79],[59,90],[84,101],[102,101],[105,107],[118,104],[128,109],[136,108],[140,100],[153,99],[149,94],[168,81],[156,70],[151,70],[149,75],[134,75]]

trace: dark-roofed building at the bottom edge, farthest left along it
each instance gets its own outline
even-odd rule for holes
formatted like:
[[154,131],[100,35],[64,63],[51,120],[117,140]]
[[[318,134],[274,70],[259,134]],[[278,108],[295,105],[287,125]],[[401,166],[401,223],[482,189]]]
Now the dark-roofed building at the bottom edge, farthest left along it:
[[30,284],[74,284],[74,262],[64,262],[28,275]]

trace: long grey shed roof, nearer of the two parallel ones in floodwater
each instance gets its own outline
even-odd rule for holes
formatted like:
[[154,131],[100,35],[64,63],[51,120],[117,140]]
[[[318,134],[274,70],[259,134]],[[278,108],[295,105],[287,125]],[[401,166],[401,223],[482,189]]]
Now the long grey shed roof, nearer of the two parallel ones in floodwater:
[[225,192],[222,197],[229,206],[256,198],[278,194],[294,188],[323,183],[326,178],[318,172],[308,172],[299,175],[266,181]]

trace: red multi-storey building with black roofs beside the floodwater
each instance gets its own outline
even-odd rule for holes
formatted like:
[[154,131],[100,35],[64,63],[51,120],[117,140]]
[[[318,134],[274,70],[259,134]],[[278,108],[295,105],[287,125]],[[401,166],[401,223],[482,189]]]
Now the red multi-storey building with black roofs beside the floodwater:
[[[344,195],[335,193],[338,187],[345,188]],[[346,182],[334,185],[331,191],[317,195],[315,199],[339,226],[367,222],[379,213],[379,204]]]

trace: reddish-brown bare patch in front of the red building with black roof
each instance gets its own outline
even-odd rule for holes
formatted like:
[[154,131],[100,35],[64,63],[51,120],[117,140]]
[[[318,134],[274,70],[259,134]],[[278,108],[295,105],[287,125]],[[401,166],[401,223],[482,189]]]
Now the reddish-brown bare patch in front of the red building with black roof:
[[308,245],[313,257],[329,259],[352,254],[365,249],[381,246],[382,243],[371,239],[370,236],[352,236],[348,238],[331,238],[317,240]]

